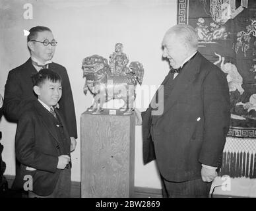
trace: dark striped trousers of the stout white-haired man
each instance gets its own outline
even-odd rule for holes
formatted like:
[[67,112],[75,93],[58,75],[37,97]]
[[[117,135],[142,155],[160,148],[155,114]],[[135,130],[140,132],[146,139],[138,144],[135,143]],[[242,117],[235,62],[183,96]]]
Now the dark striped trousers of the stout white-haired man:
[[170,182],[161,177],[164,198],[208,198],[212,183],[201,178],[184,182]]

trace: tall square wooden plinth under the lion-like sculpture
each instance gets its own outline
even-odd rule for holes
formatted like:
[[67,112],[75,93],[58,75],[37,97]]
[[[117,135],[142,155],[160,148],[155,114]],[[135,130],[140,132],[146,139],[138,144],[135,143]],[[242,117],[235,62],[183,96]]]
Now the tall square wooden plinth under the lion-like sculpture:
[[134,189],[135,114],[81,115],[81,196],[131,197]]

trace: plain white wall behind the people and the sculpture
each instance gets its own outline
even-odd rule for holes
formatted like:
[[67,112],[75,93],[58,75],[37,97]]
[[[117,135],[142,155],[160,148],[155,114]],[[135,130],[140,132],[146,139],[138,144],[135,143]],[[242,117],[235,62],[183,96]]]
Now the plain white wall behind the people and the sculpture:
[[[33,19],[25,20],[23,6],[31,3]],[[168,28],[176,24],[176,0],[1,0],[0,1],[0,93],[3,94],[10,69],[28,59],[23,30],[33,26],[48,26],[58,42],[53,61],[67,68],[77,114],[79,138],[73,152],[72,180],[80,181],[80,115],[91,104],[82,88],[82,59],[98,54],[106,58],[117,42],[123,43],[130,61],[144,66],[144,85],[158,85],[168,73],[168,63],[162,61],[161,42]],[[144,108],[139,107],[144,110]],[[1,119],[5,174],[15,175],[16,125]],[[143,166],[141,127],[136,127],[135,186],[160,188],[154,162]]]

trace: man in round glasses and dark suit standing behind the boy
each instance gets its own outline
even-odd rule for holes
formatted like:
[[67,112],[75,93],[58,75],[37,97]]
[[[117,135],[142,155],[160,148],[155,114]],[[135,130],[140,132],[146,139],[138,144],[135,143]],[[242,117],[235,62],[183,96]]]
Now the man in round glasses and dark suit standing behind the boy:
[[63,96],[57,107],[59,107],[59,111],[67,124],[71,137],[71,150],[73,151],[77,144],[75,140],[77,138],[77,122],[69,76],[65,67],[51,61],[57,42],[47,27],[36,26],[31,28],[29,32],[27,42],[31,57],[23,65],[9,72],[5,84],[3,113],[9,121],[17,122],[20,115],[30,109],[32,102],[37,100],[33,92],[31,76],[38,73],[40,69],[53,70],[62,78]]

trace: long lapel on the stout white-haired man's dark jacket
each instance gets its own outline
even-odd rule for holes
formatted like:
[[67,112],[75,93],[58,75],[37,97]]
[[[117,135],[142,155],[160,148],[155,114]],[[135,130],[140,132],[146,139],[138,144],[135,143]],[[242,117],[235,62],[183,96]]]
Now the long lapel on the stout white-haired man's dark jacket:
[[[167,99],[164,99],[164,112],[162,115],[159,115],[158,118],[162,117],[166,111],[172,108],[176,104],[177,100],[181,94],[187,89],[189,84],[195,80],[197,73],[200,71],[201,64],[201,54],[197,52],[195,58],[189,61],[187,65],[182,69],[181,73],[177,75],[177,78],[174,79],[174,87],[170,92],[170,96]],[[167,87],[167,86],[166,86]],[[164,88],[166,88],[164,87]]]

